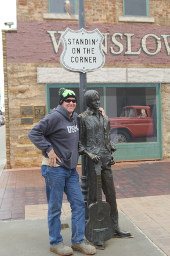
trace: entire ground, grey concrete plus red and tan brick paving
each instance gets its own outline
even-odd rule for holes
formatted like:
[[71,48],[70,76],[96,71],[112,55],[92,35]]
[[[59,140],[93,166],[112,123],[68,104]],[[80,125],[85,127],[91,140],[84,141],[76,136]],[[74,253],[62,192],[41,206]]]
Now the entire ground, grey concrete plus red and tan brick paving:
[[[77,170],[81,175],[80,166]],[[106,242],[105,250],[97,250],[98,255],[170,256],[169,170],[169,161],[112,166],[120,227],[129,230],[135,238],[113,238]],[[3,170],[0,178],[0,255],[53,255],[49,251],[47,211],[45,181],[40,168]],[[63,195],[63,223],[70,225],[70,215],[70,204]],[[70,230],[62,230],[62,233],[64,242],[71,245]]]

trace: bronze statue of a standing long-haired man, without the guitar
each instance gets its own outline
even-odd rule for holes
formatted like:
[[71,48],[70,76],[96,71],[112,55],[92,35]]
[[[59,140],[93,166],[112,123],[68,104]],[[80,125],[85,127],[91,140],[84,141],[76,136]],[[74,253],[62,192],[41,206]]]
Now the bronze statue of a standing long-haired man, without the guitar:
[[[130,236],[118,226],[116,193],[113,183],[111,165],[115,164],[116,147],[111,141],[110,122],[100,114],[100,96],[96,90],[87,90],[84,94],[87,110],[78,116],[79,123],[79,154],[86,155],[87,204],[96,203],[96,172],[94,163],[101,161],[101,185],[107,203],[111,205],[111,218],[115,234],[120,237]],[[100,243],[98,245],[102,245]]]

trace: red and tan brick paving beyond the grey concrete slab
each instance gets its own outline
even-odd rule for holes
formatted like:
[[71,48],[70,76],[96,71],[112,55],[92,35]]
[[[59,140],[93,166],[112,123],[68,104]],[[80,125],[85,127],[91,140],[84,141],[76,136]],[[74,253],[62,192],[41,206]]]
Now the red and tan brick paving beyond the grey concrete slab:
[[[169,167],[168,161],[116,163],[112,166],[118,212],[124,212],[168,256]],[[80,166],[77,170],[81,175]],[[0,205],[0,221],[46,218],[48,205],[40,168],[3,170]],[[70,204],[67,203],[66,195],[63,195],[61,216],[70,215]]]

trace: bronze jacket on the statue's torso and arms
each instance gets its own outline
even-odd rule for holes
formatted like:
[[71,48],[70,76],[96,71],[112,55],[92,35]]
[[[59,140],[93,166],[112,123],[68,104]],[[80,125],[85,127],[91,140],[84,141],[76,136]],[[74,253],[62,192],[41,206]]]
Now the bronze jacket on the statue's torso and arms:
[[[101,117],[103,117],[101,115]],[[100,125],[97,120],[96,114],[91,110],[87,109],[82,114],[78,115],[79,124],[79,147],[78,152],[80,155],[83,154],[84,150],[92,152],[93,154],[99,153],[101,149],[101,137],[100,137]],[[104,138],[106,148],[111,152],[115,151],[116,147],[111,141],[111,125],[107,115],[103,117],[104,125]]]

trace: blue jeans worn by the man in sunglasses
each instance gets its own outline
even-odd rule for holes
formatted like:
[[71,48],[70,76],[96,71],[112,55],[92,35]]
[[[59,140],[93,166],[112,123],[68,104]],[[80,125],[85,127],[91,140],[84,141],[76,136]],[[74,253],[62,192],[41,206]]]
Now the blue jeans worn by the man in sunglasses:
[[63,241],[61,232],[61,207],[63,192],[71,207],[71,242],[84,242],[85,204],[79,185],[76,169],[64,167],[41,166],[41,175],[45,178],[46,198],[48,201],[48,228],[50,245],[58,245]]

